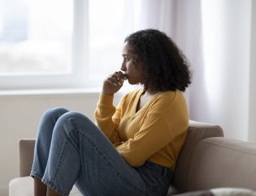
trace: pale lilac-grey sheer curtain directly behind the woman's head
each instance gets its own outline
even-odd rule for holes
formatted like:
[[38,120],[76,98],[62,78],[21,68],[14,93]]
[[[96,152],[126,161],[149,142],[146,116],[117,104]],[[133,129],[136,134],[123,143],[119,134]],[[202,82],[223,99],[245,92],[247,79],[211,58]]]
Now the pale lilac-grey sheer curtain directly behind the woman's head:
[[189,59],[193,83],[185,96],[190,118],[204,120],[201,117],[206,117],[209,111],[202,56],[201,1],[142,0],[141,5],[141,28],[158,28],[166,32]]

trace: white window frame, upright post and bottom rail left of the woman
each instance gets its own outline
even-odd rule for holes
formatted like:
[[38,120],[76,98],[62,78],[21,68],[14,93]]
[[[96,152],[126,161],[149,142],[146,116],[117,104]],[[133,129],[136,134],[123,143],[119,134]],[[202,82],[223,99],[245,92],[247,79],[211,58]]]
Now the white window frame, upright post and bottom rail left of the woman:
[[97,87],[89,82],[89,0],[73,0],[72,70],[0,75],[0,90]]

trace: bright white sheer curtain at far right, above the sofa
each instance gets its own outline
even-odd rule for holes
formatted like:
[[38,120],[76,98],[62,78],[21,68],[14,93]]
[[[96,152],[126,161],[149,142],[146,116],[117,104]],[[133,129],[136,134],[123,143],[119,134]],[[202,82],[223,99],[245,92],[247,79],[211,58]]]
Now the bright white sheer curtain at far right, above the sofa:
[[[208,115],[226,136],[249,140],[250,0],[202,1]],[[254,138],[256,141],[256,138]]]

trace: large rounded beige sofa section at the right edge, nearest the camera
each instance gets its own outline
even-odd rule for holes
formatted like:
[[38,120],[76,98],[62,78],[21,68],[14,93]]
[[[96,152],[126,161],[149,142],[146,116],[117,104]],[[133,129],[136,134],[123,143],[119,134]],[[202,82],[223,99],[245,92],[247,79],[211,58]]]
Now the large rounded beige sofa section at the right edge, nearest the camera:
[[236,187],[256,190],[256,144],[206,138],[193,150],[186,190]]

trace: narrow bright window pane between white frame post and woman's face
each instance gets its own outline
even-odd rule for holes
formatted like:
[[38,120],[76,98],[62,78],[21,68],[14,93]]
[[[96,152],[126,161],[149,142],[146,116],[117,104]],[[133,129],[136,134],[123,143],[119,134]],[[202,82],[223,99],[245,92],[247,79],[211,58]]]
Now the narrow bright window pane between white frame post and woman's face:
[[106,77],[119,70],[123,13],[124,1],[89,1],[89,79]]

